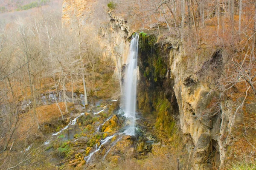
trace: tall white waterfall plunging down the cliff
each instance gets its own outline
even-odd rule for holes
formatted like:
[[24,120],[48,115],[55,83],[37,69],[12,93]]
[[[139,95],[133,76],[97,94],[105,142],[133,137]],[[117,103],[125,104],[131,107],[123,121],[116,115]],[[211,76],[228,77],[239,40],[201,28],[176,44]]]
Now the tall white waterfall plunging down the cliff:
[[136,88],[137,88],[137,58],[139,34],[133,35],[130,45],[130,54],[128,65],[125,71],[124,85],[124,116],[128,119],[129,125],[125,130],[127,135],[135,135],[135,120],[136,120]]

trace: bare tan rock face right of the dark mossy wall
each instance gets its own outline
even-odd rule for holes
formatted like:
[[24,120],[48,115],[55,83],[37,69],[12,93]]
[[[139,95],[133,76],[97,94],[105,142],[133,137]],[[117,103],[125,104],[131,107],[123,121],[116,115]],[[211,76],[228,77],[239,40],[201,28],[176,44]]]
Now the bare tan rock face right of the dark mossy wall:
[[[173,90],[179,106],[181,129],[187,140],[186,147],[193,154],[194,169],[207,169],[207,163],[212,164],[215,158],[222,159],[225,155],[219,147],[223,128],[220,117],[222,109],[216,100],[219,94],[212,92],[212,89],[216,89],[217,70],[223,67],[223,56],[215,51],[208,58],[202,57],[202,64],[195,66],[193,63],[199,63],[196,60],[200,56],[186,56],[177,47],[177,42],[172,44],[169,53],[170,78],[174,81]],[[211,69],[213,65],[215,69]],[[209,74],[202,75],[202,72]],[[221,159],[215,160],[215,164],[223,166]]]

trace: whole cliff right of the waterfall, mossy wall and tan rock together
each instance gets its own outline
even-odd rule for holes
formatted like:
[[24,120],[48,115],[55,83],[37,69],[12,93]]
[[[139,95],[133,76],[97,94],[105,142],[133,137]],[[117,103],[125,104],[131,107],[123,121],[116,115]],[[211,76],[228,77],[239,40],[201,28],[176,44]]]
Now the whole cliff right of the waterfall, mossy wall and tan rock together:
[[[211,169],[212,164],[221,169],[232,157],[244,119],[243,111],[234,117],[239,104],[219,98],[216,90],[227,58],[220,50],[209,48],[201,49],[207,57],[188,56],[177,40],[168,40],[160,50],[154,37],[141,34],[139,108],[145,116],[156,116],[155,125],[160,130],[168,132],[180,121],[195,170]],[[231,122],[240,127],[232,128],[233,133]]]

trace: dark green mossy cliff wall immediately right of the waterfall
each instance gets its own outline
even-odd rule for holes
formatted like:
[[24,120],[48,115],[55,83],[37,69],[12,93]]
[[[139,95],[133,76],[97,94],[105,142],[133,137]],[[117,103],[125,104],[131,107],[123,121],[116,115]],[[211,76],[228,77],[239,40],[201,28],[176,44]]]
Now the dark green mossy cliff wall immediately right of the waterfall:
[[141,79],[137,100],[143,115],[153,114],[156,117],[157,129],[170,134],[175,126],[172,115],[176,111],[169,98],[175,97],[169,94],[171,80],[166,78],[169,51],[161,49],[156,43],[154,35],[140,33],[138,65]]

